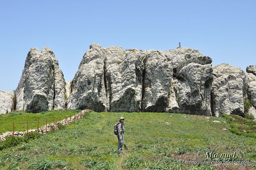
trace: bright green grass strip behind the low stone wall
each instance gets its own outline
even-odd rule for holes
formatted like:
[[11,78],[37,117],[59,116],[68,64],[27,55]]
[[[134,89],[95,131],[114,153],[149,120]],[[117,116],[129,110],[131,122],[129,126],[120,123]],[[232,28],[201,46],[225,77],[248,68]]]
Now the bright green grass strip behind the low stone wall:
[[8,114],[0,115],[0,134],[4,132],[12,132],[12,126],[14,123],[14,131],[25,131],[27,130],[27,122],[29,129],[37,128],[37,120],[39,128],[47,123],[52,123],[53,119],[55,122],[59,122],[65,119],[65,116],[74,116],[81,110],[51,110],[41,113],[29,113],[24,111],[10,112]]

